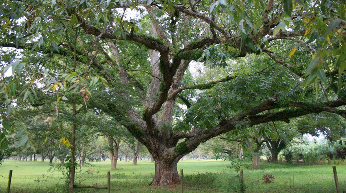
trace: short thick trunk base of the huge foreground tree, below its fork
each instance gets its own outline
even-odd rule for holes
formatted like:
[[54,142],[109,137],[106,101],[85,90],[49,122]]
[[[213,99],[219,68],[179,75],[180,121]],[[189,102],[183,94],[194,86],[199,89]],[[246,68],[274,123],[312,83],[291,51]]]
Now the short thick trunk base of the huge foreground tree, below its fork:
[[169,184],[178,184],[180,182],[177,170],[178,161],[169,163],[155,160],[155,176],[150,185],[167,186]]

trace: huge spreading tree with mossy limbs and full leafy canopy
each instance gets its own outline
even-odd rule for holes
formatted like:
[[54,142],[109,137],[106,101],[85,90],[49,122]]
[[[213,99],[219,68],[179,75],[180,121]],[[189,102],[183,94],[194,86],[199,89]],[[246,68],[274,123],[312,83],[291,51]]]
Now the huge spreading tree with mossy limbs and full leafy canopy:
[[178,161],[215,137],[256,166],[263,144],[276,160],[297,134],[343,136],[343,1],[0,3],[1,150],[13,138],[45,154],[64,144],[70,193],[94,135],[115,164],[130,132],[161,186],[179,183]]

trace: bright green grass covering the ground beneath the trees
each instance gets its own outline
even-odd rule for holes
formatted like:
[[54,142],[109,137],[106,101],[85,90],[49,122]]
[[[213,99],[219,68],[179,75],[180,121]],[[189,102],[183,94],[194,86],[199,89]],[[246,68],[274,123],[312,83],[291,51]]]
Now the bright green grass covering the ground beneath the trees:
[[[250,163],[249,163],[250,164]],[[9,170],[13,170],[11,193],[63,193],[65,178],[55,163],[8,161],[0,166],[0,192],[5,192]],[[237,174],[227,168],[228,161],[184,160],[178,170],[184,169],[185,193],[234,192]],[[93,162],[81,168],[81,184],[106,185],[110,162]],[[247,193],[335,193],[332,165],[296,166],[261,162],[261,167],[243,168]],[[340,187],[346,190],[346,165],[338,165]],[[274,183],[263,184],[262,176],[272,174]],[[114,193],[179,193],[180,186],[148,186],[154,175],[154,163],[139,161],[118,162],[118,169],[111,171],[111,187]],[[79,182],[79,168],[76,183]],[[106,193],[104,189],[77,189],[77,193]]]

